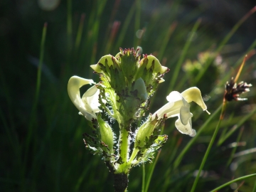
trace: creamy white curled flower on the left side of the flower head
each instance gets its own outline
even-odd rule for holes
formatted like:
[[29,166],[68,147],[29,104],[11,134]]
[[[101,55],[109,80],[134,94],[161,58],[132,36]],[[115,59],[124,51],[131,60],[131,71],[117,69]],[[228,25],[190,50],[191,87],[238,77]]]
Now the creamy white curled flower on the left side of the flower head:
[[79,114],[84,115],[87,120],[91,121],[92,119],[97,119],[96,113],[100,112],[100,103],[98,101],[100,90],[93,85],[81,98],[80,87],[87,84],[91,85],[95,84],[95,82],[78,76],[71,77],[68,81],[68,95],[75,107],[80,111]]

